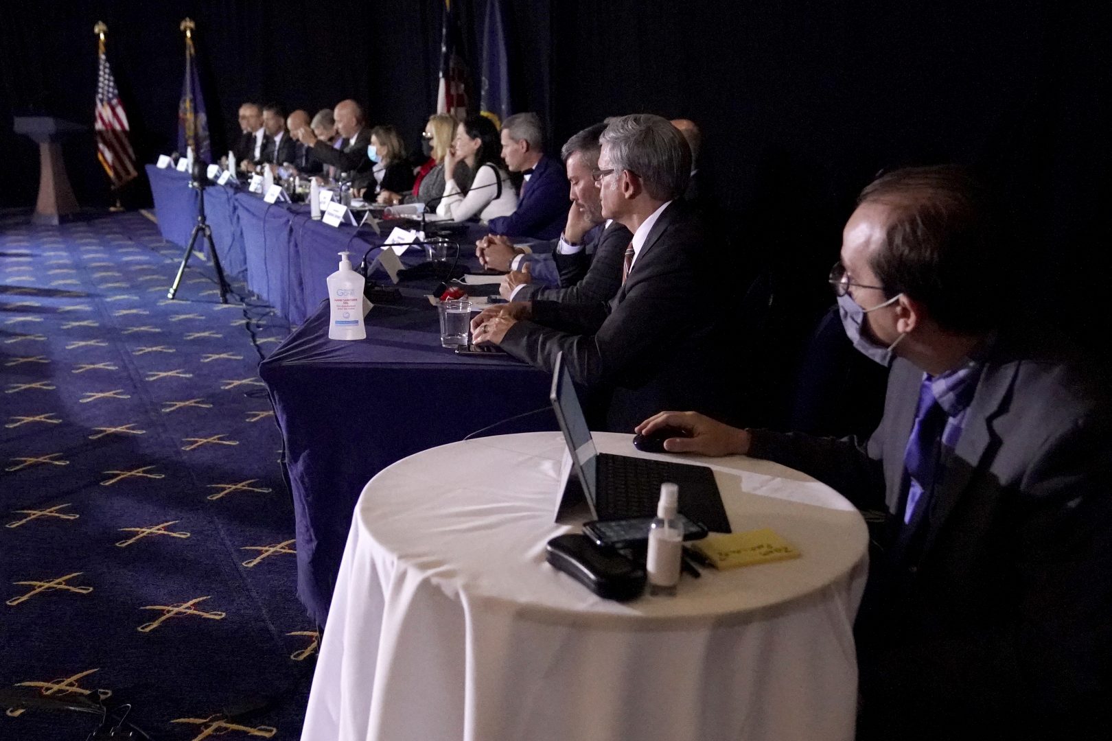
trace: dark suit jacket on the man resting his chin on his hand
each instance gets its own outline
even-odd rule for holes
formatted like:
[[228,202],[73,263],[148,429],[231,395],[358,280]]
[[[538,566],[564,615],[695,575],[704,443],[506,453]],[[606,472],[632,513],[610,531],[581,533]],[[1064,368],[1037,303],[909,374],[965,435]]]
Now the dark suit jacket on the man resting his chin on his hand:
[[[617,221],[602,231],[594,249],[574,254],[552,253],[559,270],[564,288],[528,284],[514,299],[516,301],[559,301],[563,303],[594,304],[613,299],[622,288],[622,263],[626,247],[633,241],[629,230]],[[593,254],[594,257],[590,257]],[[583,274],[583,272],[586,274]],[[582,276],[582,278],[579,278]]]

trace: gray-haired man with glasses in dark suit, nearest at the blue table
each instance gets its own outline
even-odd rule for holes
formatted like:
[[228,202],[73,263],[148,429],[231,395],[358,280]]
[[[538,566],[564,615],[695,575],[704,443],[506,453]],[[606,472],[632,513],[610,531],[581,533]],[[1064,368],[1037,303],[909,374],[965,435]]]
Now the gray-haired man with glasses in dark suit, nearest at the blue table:
[[588,390],[595,429],[628,432],[665,399],[703,410],[723,399],[715,382],[722,271],[701,222],[677,202],[689,171],[687,144],[665,119],[614,120],[592,176],[603,216],[633,234],[617,294],[588,304],[515,301],[471,323],[476,343],[500,344],[544,370],[563,352],[573,380]]

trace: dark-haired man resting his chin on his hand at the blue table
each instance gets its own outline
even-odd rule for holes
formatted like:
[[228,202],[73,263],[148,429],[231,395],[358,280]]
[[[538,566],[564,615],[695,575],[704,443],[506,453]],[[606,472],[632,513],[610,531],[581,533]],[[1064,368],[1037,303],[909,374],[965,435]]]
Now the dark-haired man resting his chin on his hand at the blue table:
[[560,150],[572,207],[558,240],[534,246],[533,252],[514,247],[500,236],[487,234],[476,242],[476,254],[484,267],[510,271],[498,289],[507,301],[609,301],[622,287],[622,261],[633,234],[617,221],[603,218],[598,183],[592,177],[598,167],[604,129],[604,123],[588,127]]

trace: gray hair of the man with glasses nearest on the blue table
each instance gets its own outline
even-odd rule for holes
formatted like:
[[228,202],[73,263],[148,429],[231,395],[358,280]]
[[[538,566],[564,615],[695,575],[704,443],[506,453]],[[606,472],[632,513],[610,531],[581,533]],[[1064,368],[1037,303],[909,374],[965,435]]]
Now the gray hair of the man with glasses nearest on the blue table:
[[634,113],[615,119],[600,138],[610,167],[628,170],[655,200],[681,198],[691,180],[692,151],[684,136],[659,116]]

